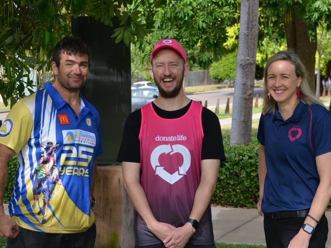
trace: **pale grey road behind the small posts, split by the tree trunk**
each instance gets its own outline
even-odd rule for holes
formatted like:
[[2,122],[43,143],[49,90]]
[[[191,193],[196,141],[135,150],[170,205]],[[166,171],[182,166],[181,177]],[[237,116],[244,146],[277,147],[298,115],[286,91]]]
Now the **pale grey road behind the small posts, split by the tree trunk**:
[[[254,88],[254,97],[259,94],[259,97],[262,96],[264,88],[257,87]],[[233,91],[234,88],[226,88],[218,91],[205,92],[199,94],[187,95],[188,97],[197,98],[202,101],[202,104],[205,105],[205,101],[208,101],[208,107],[216,106],[217,99],[219,99],[219,105],[226,105],[228,98],[230,98],[230,104],[233,102]]]

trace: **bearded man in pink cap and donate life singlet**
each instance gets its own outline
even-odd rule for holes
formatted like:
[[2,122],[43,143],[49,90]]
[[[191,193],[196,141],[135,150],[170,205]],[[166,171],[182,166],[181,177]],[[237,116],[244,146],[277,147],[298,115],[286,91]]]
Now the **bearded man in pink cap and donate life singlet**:
[[215,247],[210,199],[225,160],[218,118],[185,96],[189,66],[176,40],[160,40],[150,62],[159,96],[129,115],[118,156],[135,247]]

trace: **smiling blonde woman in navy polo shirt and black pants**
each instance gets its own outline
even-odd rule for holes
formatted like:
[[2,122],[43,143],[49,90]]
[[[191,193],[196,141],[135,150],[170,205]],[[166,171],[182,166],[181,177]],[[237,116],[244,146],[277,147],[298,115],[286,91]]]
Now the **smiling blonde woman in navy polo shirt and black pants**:
[[258,140],[260,199],[267,247],[325,247],[331,197],[331,116],[311,92],[291,51],[264,71]]

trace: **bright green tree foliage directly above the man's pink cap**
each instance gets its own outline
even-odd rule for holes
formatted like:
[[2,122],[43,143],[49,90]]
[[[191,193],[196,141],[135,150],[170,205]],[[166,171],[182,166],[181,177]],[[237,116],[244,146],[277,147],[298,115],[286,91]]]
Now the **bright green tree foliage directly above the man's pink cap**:
[[236,0],[134,2],[140,6],[141,18],[151,31],[139,45],[143,61],[148,65],[151,50],[159,39],[175,38],[186,49],[190,65],[207,68],[224,52],[223,43],[228,39],[226,27],[236,22],[238,3]]

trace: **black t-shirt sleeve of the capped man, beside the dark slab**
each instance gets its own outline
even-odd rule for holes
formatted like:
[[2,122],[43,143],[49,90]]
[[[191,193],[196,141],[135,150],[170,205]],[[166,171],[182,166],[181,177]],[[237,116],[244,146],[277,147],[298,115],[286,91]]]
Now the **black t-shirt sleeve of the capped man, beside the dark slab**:
[[126,119],[122,143],[117,157],[118,161],[140,163],[139,132],[141,123],[142,112],[140,109],[132,112]]

